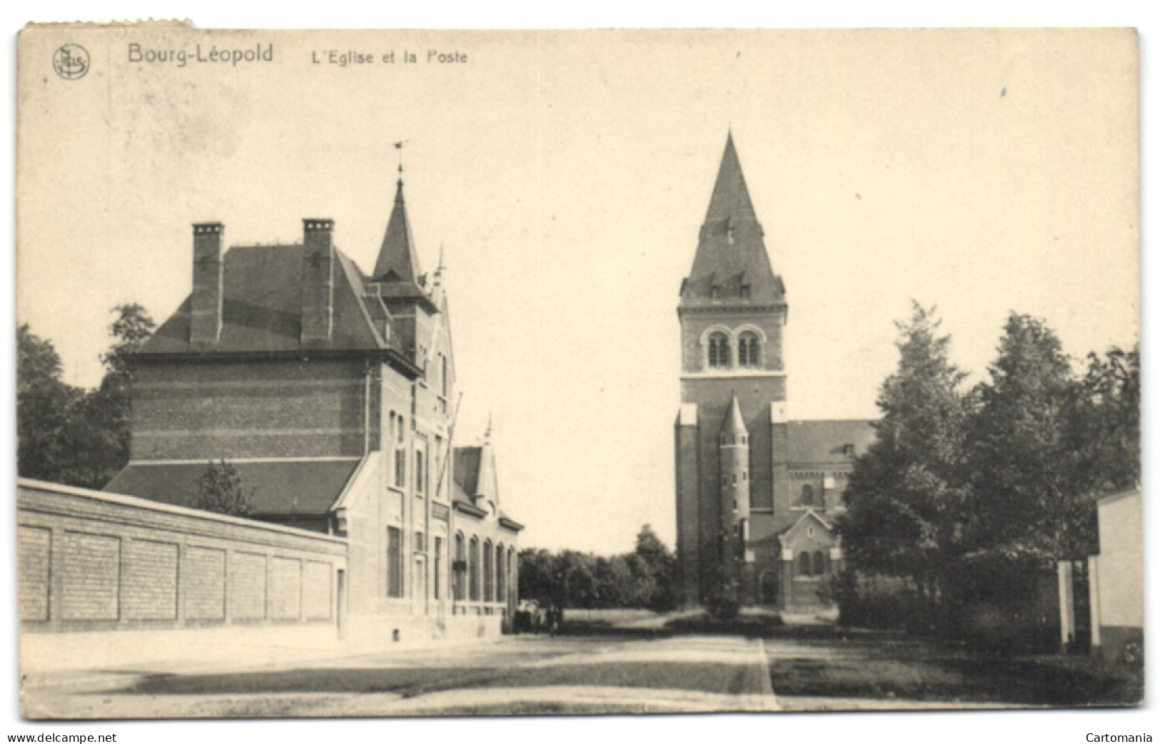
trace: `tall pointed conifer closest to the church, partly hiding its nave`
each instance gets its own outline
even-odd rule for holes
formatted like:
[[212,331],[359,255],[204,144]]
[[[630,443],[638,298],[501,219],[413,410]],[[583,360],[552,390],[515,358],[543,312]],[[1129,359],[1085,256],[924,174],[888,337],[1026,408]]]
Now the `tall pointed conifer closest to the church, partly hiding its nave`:
[[855,460],[838,519],[851,569],[905,577],[933,610],[950,557],[959,552],[967,491],[962,480],[964,373],[934,307],[913,304],[897,323],[898,370],[878,394],[877,440]]

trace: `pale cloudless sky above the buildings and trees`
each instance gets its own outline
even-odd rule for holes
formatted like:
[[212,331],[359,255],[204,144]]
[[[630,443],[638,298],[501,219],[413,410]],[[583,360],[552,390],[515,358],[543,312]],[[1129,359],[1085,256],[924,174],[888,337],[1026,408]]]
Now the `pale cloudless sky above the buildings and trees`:
[[[89,38],[87,80],[21,70],[17,320],[66,380],[100,380],[109,308],[184,299],[191,223],[252,245],[332,218],[371,269],[405,140],[420,261],[448,267],[457,436],[494,421],[525,546],[626,550],[646,523],[673,545],[677,290],[728,132],[788,289],[791,417],[873,417],[912,299],[972,382],[1010,311],[1076,358],[1138,338],[1131,32]],[[275,59],[129,60],[198,41]]]

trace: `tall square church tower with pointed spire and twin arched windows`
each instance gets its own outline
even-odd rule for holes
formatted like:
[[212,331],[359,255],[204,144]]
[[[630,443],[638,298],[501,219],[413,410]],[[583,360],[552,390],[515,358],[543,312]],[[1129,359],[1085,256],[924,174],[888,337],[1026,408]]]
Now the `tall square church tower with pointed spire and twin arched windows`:
[[757,567],[781,560],[775,494],[789,490],[786,302],[732,133],[680,296],[675,444],[682,600],[703,604],[723,595],[755,604]]

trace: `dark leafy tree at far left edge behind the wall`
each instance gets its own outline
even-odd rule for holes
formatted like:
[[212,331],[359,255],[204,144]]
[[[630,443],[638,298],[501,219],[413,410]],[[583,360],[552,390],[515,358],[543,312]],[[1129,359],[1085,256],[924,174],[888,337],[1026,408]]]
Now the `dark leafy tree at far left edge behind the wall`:
[[63,477],[73,457],[68,436],[82,393],[61,380],[60,356],[28,323],[16,330],[16,462],[20,474]]

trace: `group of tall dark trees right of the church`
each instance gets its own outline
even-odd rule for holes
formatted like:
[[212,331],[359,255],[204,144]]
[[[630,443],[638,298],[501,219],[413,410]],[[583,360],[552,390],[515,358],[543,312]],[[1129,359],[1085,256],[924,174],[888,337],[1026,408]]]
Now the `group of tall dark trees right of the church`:
[[1138,350],[1090,353],[1076,374],[1043,320],[1012,313],[987,378],[964,388],[940,322],[915,304],[898,324],[878,437],[839,520],[848,566],[906,579],[930,622],[967,599],[972,574],[991,575],[980,567],[1094,552],[1093,497],[1140,476]]

